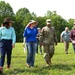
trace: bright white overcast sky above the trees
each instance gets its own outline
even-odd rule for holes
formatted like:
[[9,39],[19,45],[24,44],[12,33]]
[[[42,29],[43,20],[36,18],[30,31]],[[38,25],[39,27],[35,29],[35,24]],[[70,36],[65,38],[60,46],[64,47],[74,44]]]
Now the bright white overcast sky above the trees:
[[50,11],[57,11],[64,19],[75,19],[75,0],[0,0],[9,3],[14,13],[20,8],[27,8],[37,16],[44,16]]

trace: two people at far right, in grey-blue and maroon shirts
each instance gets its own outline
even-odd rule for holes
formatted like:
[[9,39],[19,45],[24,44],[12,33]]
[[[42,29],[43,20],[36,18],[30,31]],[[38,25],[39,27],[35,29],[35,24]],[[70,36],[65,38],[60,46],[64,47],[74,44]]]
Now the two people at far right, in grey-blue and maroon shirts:
[[61,42],[64,43],[65,53],[68,54],[69,43],[72,42],[72,46],[75,53],[75,22],[71,31],[69,31],[68,27],[65,27],[65,30],[61,33]]

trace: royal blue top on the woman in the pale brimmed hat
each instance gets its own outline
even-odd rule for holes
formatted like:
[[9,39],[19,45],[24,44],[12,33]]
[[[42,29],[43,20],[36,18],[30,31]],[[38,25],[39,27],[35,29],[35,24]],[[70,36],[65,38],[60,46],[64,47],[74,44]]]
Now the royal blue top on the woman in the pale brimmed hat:
[[24,37],[26,38],[26,42],[36,42],[37,41],[37,39],[36,39],[37,34],[38,34],[38,30],[36,27],[34,27],[32,29],[27,27],[24,30]]

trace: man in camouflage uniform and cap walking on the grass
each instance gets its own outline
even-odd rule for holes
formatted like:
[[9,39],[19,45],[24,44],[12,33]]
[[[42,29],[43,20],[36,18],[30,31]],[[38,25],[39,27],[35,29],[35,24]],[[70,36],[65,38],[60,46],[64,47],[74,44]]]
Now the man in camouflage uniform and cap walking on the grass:
[[46,20],[46,26],[42,28],[40,42],[44,47],[44,58],[46,66],[51,64],[51,58],[54,55],[54,42],[57,45],[57,38],[54,27],[51,26],[51,19]]

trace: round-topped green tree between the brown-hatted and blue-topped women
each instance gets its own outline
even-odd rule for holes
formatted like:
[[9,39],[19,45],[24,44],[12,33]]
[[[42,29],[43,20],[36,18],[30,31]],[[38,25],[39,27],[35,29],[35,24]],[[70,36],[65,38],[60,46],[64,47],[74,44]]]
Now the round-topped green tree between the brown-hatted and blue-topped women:
[[17,41],[23,40],[23,31],[31,18],[31,14],[27,8],[20,8],[16,13],[16,34]]

